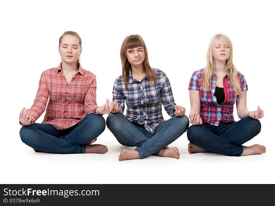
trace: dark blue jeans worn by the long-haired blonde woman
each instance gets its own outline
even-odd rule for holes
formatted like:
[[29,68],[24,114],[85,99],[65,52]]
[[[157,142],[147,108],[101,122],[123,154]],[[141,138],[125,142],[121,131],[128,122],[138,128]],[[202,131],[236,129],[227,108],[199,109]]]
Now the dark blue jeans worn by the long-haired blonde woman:
[[261,131],[258,119],[245,117],[235,123],[220,122],[219,126],[211,124],[192,125],[187,130],[191,143],[223,155],[241,156],[243,143],[251,140]]

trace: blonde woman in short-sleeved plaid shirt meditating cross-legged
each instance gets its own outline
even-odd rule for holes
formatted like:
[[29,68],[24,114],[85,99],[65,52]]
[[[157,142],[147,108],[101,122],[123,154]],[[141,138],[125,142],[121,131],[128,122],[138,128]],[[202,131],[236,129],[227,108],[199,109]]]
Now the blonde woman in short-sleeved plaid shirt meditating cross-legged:
[[[204,69],[195,71],[189,82],[190,123],[188,152],[212,151],[229,156],[263,154],[262,145],[242,146],[261,130],[263,110],[246,107],[247,83],[232,62],[232,43],[216,34],[209,43]],[[234,121],[233,105],[241,119]]]

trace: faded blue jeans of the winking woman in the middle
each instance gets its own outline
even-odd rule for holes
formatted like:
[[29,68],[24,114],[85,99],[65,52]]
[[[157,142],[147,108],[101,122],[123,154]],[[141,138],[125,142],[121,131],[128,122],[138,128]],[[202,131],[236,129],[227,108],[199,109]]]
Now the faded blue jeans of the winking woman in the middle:
[[186,115],[173,116],[159,124],[154,135],[143,125],[130,122],[122,113],[111,113],[106,120],[107,127],[125,146],[136,146],[141,159],[150,155],[158,155],[165,146],[178,139],[188,128],[189,119]]

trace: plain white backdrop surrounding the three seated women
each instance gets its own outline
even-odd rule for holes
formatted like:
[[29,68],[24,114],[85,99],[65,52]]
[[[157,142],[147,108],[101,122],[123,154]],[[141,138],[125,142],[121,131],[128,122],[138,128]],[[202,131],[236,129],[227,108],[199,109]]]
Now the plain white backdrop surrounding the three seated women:
[[[1,183],[275,183],[271,1],[88,2],[1,3]],[[20,139],[19,112],[31,107],[42,71],[59,65],[58,39],[67,30],[82,38],[81,64],[96,74],[98,105],[112,99],[113,82],[121,75],[123,39],[140,34],[150,65],[167,74],[176,104],[184,106],[187,115],[192,72],[206,65],[211,37],[226,34],[233,44],[233,62],[247,80],[247,108],[260,105],[264,110],[261,133],[244,145],[265,145],[267,152],[190,155],[184,133],[169,145],[178,147],[179,160],[151,156],[119,162],[120,150],[127,147],[106,127],[96,142],[108,146],[104,155],[35,153]],[[239,120],[236,109],[234,116]]]

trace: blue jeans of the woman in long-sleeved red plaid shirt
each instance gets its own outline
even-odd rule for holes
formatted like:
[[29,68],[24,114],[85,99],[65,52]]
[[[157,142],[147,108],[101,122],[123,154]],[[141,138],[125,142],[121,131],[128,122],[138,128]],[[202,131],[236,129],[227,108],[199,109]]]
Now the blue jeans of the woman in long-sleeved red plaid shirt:
[[52,153],[84,153],[87,143],[105,129],[105,119],[99,114],[87,114],[76,125],[58,130],[51,124],[31,124],[20,129],[22,142],[33,149]]

